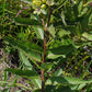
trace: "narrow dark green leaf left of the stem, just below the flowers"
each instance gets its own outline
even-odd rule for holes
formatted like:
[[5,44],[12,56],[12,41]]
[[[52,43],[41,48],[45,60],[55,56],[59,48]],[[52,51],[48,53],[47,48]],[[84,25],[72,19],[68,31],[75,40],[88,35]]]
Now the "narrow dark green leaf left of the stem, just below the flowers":
[[15,18],[14,20],[16,23],[24,24],[24,25],[41,25],[42,26],[41,22],[33,19]]

